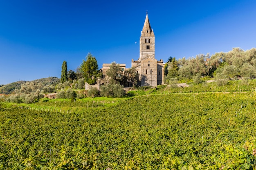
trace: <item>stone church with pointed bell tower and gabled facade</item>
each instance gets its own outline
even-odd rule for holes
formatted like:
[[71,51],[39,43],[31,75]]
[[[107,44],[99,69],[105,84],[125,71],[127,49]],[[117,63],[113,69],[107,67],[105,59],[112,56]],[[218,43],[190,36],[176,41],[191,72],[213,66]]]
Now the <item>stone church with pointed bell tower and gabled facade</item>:
[[162,59],[155,59],[155,35],[148,20],[148,13],[139,40],[139,59],[132,59],[132,67],[139,74],[138,85],[164,84],[164,63]]

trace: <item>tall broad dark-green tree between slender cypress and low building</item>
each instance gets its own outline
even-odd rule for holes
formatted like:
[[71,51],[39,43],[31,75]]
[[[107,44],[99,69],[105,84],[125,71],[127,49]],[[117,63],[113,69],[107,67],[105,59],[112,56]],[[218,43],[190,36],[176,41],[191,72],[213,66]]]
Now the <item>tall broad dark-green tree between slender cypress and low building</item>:
[[[86,61],[83,60],[80,68],[78,69],[82,76],[85,78],[85,81],[89,84],[95,83],[95,79],[97,74],[99,73],[99,65],[97,63],[97,59],[92,56],[91,53],[88,53],[86,56]],[[92,81],[94,80],[94,81]]]

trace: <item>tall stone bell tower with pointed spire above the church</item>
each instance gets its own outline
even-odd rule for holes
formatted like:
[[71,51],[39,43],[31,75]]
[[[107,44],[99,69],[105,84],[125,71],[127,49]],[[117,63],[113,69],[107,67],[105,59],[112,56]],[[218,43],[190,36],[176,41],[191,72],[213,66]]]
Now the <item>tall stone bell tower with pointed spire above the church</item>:
[[155,35],[148,20],[148,12],[139,40],[139,60],[147,56],[155,58]]

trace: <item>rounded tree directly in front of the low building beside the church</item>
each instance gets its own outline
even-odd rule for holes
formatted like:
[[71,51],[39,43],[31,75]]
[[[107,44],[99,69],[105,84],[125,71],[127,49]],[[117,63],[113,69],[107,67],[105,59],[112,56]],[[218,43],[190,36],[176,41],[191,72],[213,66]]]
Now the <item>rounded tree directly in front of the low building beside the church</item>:
[[106,72],[110,84],[120,84],[123,81],[124,73],[116,62],[112,62]]

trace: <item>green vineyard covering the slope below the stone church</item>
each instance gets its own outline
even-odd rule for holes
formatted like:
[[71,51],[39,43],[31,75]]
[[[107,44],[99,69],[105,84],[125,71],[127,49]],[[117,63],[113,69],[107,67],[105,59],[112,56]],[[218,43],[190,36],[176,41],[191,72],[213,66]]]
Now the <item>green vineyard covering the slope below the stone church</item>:
[[0,169],[254,169],[255,89],[210,90],[2,108]]

